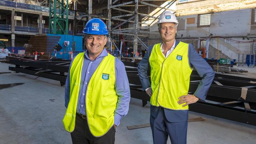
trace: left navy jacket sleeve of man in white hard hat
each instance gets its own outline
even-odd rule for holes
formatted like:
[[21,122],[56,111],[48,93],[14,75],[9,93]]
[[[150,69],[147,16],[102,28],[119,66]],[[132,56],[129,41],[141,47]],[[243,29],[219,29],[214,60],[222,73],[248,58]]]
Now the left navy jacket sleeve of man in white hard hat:
[[148,51],[144,55],[143,59],[138,65],[138,73],[139,73],[139,80],[141,81],[142,90],[146,90],[147,88],[151,87],[150,81],[148,79],[148,64],[149,64],[149,56],[152,51],[153,46],[148,48]]

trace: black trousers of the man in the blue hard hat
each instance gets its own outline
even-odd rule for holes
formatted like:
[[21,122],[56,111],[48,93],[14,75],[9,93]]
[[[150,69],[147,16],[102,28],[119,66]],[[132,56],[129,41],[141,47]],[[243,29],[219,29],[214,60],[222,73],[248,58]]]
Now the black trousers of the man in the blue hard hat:
[[115,144],[115,127],[111,127],[109,131],[102,137],[94,137],[87,123],[86,117],[76,114],[75,129],[71,134],[73,144]]

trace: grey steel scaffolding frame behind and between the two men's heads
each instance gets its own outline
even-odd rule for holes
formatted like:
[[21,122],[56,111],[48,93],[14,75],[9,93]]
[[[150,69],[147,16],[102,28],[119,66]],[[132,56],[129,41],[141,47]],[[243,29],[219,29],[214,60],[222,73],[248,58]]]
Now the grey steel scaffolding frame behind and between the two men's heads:
[[[153,22],[155,22],[156,20],[158,20],[159,16],[162,13],[164,13],[166,10],[173,11],[173,13],[176,13],[175,10],[169,9],[169,7],[171,7],[174,4],[174,2],[176,2],[176,0],[171,0],[164,7],[157,6],[154,4],[149,4],[142,0],[132,0],[130,2],[124,2],[122,4],[116,4],[117,2],[120,2],[120,0],[108,0],[108,18],[106,18],[106,20],[108,20],[107,27],[108,27],[109,35],[108,35],[107,44],[110,47],[110,45],[112,46],[112,43],[115,41],[115,39],[111,38],[111,34],[122,34],[122,35],[133,36],[133,49],[134,49],[133,54],[134,54],[134,59],[137,59],[138,43],[141,44],[141,46],[143,48],[145,48],[146,50],[148,49],[147,45],[139,37],[148,37],[149,34],[159,34],[158,32],[149,31],[150,25]],[[118,7],[122,7],[122,6],[128,6],[128,5],[131,6],[131,4],[134,5],[134,11],[129,11],[129,10],[118,8]],[[159,11],[161,11],[162,9],[164,9],[164,11],[162,13],[160,13],[160,15],[158,17],[150,16],[150,15],[144,14],[144,13],[139,13],[139,11],[138,11],[139,4],[143,4],[145,6],[150,6],[150,7],[157,7],[157,8],[160,8]],[[95,17],[95,15],[92,15],[91,0],[89,0],[89,2],[88,2],[88,9],[89,9],[88,15],[85,15],[85,17],[87,16],[88,19],[91,19],[92,16]],[[125,12],[128,14],[122,14],[122,15],[117,15],[117,16],[112,17],[112,15],[111,15],[112,10],[122,11],[122,12]],[[158,13],[159,11],[157,11],[156,13]],[[139,16],[144,17],[145,20],[148,20],[148,18],[152,18],[153,21],[151,23],[139,22]],[[117,26],[111,28],[112,20],[117,20],[117,21],[122,21],[122,22],[120,24],[118,24]],[[143,21],[145,21],[145,20],[143,20]],[[134,23],[134,28],[117,29],[120,26],[122,26],[128,22]],[[146,26],[140,26],[140,24],[144,24]],[[120,52],[119,48],[116,45],[115,45],[115,47]],[[111,49],[112,49],[112,47],[111,47]]]

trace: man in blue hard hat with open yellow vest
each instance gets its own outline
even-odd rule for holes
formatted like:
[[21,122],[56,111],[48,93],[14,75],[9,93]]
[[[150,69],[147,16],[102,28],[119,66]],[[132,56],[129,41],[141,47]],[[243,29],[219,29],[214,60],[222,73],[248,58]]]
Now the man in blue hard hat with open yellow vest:
[[89,20],[83,33],[87,51],[71,61],[66,80],[64,128],[73,144],[114,144],[130,102],[125,67],[104,48],[108,30],[101,19]]

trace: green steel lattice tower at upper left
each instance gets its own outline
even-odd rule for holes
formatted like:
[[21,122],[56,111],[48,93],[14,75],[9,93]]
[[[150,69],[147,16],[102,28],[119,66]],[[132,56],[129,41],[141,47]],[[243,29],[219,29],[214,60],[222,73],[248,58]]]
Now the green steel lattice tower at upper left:
[[50,0],[49,33],[68,34],[69,0]]

